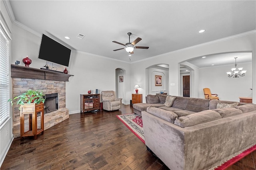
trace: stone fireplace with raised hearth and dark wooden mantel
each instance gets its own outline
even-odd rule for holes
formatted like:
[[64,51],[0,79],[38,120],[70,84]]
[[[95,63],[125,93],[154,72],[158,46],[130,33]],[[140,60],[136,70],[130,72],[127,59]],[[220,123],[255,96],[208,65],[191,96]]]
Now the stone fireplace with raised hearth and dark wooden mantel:
[[[56,106],[57,100],[57,109],[51,108],[52,111],[44,114],[44,130],[46,130],[69,117],[66,108],[66,81],[70,76],[72,75],[11,64],[12,95],[18,96],[28,89],[42,90],[44,94],[52,98],[50,99],[51,104]],[[46,107],[48,106],[46,105]],[[50,108],[48,107],[48,109]],[[13,105],[12,117],[13,135],[15,138],[20,137],[19,105]]]

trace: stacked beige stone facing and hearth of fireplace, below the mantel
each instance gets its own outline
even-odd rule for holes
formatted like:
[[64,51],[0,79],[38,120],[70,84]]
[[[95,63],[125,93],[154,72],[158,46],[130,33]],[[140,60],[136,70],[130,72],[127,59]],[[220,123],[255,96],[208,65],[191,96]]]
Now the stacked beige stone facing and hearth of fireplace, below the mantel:
[[[66,108],[66,82],[54,80],[39,80],[31,78],[12,78],[12,94],[18,96],[28,89],[42,90],[44,94],[58,93],[58,110],[44,114],[44,130],[69,118]],[[13,105],[13,135],[20,137],[20,110],[19,105]]]

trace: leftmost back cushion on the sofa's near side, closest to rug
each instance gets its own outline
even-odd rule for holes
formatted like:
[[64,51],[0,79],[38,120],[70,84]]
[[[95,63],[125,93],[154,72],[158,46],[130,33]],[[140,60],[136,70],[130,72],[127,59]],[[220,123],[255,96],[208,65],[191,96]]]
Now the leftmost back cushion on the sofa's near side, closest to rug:
[[147,108],[147,112],[171,123],[174,123],[174,120],[176,119],[176,117],[178,117],[178,115],[176,115],[172,111],[167,111],[167,110],[159,109],[157,107],[152,107],[152,106]]

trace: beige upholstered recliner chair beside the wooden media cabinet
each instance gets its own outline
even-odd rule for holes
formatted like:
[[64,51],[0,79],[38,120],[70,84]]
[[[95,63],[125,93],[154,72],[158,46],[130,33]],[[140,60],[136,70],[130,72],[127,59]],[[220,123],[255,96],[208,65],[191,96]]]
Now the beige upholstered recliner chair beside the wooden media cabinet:
[[116,98],[114,91],[102,91],[101,98],[104,110],[112,111],[121,108],[122,98]]

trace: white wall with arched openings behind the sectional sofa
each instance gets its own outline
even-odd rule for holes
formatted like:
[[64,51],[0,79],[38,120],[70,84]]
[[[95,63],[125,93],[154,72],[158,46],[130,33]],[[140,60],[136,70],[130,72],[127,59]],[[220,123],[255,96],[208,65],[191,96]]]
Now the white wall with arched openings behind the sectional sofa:
[[[182,49],[178,51],[174,51],[171,53],[166,53],[164,55],[151,57],[149,59],[145,59],[143,61],[134,62],[131,64],[131,75],[134,77],[132,80],[136,84],[140,82],[141,88],[146,88],[146,68],[156,63],[164,63],[169,64],[169,83],[174,83],[175,86],[170,86],[169,84],[169,94],[178,96],[179,88],[180,88],[180,66],[178,63],[182,63],[188,59],[192,59],[195,57],[210,55],[216,53],[228,53],[233,51],[250,51],[252,52],[252,88],[256,89],[256,33],[255,31],[251,31],[248,33],[236,35],[233,37],[228,37],[225,39],[220,39],[217,41],[205,43],[202,45],[189,47],[187,49]],[[199,72],[195,72],[194,80],[199,82]],[[196,83],[196,82],[195,82]],[[199,84],[197,84],[192,92],[191,97],[199,97],[199,92],[202,89],[199,88]],[[142,91],[143,96],[146,95],[145,90]],[[253,103],[256,102],[256,90],[252,91]],[[145,100],[143,100],[145,102]]]

